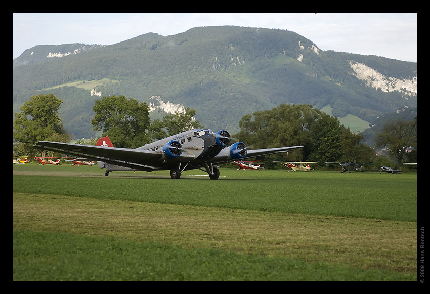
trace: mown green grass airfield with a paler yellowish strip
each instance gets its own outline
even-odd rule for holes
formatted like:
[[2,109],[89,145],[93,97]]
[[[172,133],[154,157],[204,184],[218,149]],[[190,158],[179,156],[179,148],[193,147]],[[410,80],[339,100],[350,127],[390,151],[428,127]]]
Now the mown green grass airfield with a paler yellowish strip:
[[416,173],[14,165],[12,281],[417,281]]

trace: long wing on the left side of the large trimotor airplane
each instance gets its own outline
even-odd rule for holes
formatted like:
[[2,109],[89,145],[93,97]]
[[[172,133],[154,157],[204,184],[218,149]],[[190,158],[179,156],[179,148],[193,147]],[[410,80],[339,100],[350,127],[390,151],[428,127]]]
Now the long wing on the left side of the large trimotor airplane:
[[151,150],[89,146],[48,141],[39,141],[34,145],[34,148],[64,153],[90,160],[103,161],[147,172],[156,169],[150,162],[156,161],[162,156],[161,153]]

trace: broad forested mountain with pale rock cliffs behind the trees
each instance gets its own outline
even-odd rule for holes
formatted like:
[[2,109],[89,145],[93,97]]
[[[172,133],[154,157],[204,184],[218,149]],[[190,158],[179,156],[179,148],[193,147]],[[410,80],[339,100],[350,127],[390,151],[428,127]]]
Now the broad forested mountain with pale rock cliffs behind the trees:
[[64,127],[78,138],[94,137],[94,101],[110,95],[189,107],[205,127],[231,133],[243,115],[280,104],[329,105],[334,116],[370,123],[417,107],[417,63],[321,51],[277,29],[199,27],[110,46],[36,46],[13,61],[12,74],[13,112],[33,95],[53,93],[63,100]]

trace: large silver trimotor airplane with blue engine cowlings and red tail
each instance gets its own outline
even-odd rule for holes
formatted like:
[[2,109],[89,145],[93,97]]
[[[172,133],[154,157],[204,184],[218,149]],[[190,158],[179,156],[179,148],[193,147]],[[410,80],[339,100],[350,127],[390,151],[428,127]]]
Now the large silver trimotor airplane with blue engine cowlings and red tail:
[[183,171],[200,169],[207,172],[210,179],[218,179],[220,171],[214,164],[288,152],[303,147],[248,151],[243,142],[230,145],[231,137],[227,131],[213,133],[210,129],[182,132],[136,149],[108,147],[112,146],[108,137],[99,141],[101,142],[97,145],[106,147],[39,141],[34,148],[98,161],[99,167],[106,169],[106,176],[112,171],[170,170],[170,177],[178,179]]

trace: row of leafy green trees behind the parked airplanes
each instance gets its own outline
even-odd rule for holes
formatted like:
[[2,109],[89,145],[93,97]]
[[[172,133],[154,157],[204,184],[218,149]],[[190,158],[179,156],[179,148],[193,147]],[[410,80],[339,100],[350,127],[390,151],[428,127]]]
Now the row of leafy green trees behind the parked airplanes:
[[[38,141],[70,142],[58,116],[62,101],[55,95],[31,97],[15,114],[13,139],[17,156],[35,155],[32,146]],[[96,100],[91,120],[94,130],[109,136],[115,147],[137,148],[154,140],[183,131],[202,128],[193,117],[194,109],[184,113],[167,114],[162,120],[149,117],[149,106],[125,96],[109,96]],[[375,149],[361,143],[364,135],[351,132],[330,116],[312,105],[281,104],[272,110],[246,114],[239,122],[240,131],[233,137],[251,148],[270,148],[304,145],[289,154],[272,155],[276,161],[374,162]],[[214,130],[218,131],[218,130]],[[385,148],[395,158],[398,167],[402,160],[417,157],[417,119],[413,122],[388,123],[376,135],[376,147]],[[97,140],[93,140],[95,144]],[[410,152],[412,150],[412,152]],[[409,156],[409,157],[407,157]]]

